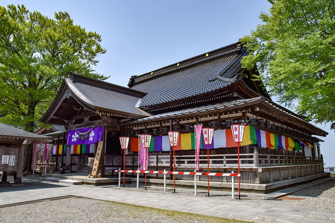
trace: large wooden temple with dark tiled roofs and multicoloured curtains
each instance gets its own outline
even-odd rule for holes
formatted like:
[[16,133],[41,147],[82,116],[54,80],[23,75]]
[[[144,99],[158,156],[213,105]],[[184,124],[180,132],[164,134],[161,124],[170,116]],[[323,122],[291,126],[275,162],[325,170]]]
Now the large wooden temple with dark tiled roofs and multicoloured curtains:
[[[94,128],[101,137],[96,140],[105,142],[99,164],[103,177],[115,177],[113,170],[123,168],[120,136],[131,137],[125,150],[125,169],[138,169],[138,135],[143,133],[152,135],[148,170],[173,170],[167,137],[172,130],[180,132],[176,171],[194,172],[194,125],[202,124],[215,129],[209,146],[210,172],[236,172],[237,147],[230,125],[242,123],[246,126],[240,147],[242,190],[265,193],[328,177],[320,153],[322,140],[317,138],[328,133],[273,102],[263,84],[254,80],[257,71],[242,68],[241,60],[248,53],[241,43],[233,43],[134,75],[129,88],[69,72],[41,118],[44,123],[65,127],[61,131],[40,130],[54,137],[55,164],[50,170],[64,166],[67,171],[80,172],[87,168],[87,158],[96,155],[97,143],[89,141],[98,137],[91,134]],[[79,134],[68,135],[71,130]],[[200,151],[199,171],[207,172],[207,147],[200,144],[204,149]],[[162,177],[151,174],[147,182],[160,185]],[[188,177],[177,175],[177,187],[192,185],[193,178]],[[213,176],[211,187],[225,190],[231,186],[230,180]],[[207,177],[200,176],[198,187],[206,187],[206,181]]]

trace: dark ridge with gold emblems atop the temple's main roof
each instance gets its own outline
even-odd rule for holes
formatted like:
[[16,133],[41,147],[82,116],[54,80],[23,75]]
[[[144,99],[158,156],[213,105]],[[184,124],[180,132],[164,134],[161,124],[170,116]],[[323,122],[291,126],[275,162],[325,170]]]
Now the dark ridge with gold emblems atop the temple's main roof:
[[[232,47],[232,46],[235,46],[235,47]],[[141,74],[141,75],[138,75],[138,76],[137,75],[131,76],[131,78],[128,82],[128,86],[129,86],[129,88],[131,88],[132,86],[134,86],[135,83],[139,83],[139,82],[142,82],[142,81],[147,80],[149,78],[157,77],[157,76],[160,76],[160,75],[168,73],[168,72],[176,71],[176,70],[179,70],[179,69],[182,69],[182,68],[185,68],[185,67],[189,67],[189,66],[207,61],[207,60],[211,60],[211,59],[219,57],[221,55],[228,54],[228,52],[234,52],[236,50],[241,50],[241,48],[242,48],[242,44],[238,41],[238,42],[235,42],[235,43],[232,43],[232,44],[229,44],[229,45],[226,45],[226,46],[223,46],[223,47],[220,47],[220,48],[217,48],[217,49],[214,49],[214,50],[202,53],[202,54],[199,54],[195,57],[191,57],[191,58],[185,59],[183,61],[173,63],[171,65],[153,70],[151,72],[147,72],[147,73],[144,73],[144,74]],[[213,55],[211,55],[210,57],[208,57],[209,54],[212,53],[212,52],[215,52],[215,53]],[[175,66],[177,66],[177,67],[175,67]],[[136,79],[139,79],[139,80],[136,80]]]

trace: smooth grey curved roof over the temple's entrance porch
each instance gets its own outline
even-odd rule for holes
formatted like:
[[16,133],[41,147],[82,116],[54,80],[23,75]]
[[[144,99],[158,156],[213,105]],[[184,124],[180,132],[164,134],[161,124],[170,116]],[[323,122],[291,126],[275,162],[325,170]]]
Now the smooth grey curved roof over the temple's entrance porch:
[[94,106],[96,109],[110,109],[133,114],[135,116],[140,115],[142,117],[150,115],[147,112],[135,107],[141,101],[141,97],[77,81],[73,82],[69,78],[65,78],[65,82],[70,90],[80,100]]

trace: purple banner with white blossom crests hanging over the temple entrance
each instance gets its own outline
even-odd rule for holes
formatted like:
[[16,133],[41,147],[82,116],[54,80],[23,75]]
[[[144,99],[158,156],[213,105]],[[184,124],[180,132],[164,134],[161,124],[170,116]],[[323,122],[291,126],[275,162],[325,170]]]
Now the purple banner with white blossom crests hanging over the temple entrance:
[[[82,144],[94,144],[96,142],[101,141],[103,137],[103,128],[102,127],[95,127],[95,128],[82,128],[78,130],[70,130],[67,132],[67,139],[66,144],[67,145],[82,145]],[[90,130],[90,131],[89,131]],[[82,138],[82,135],[79,134],[79,132],[84,133],[87,132],[88,138]],[[85,136],[85,135],[84,135]]]

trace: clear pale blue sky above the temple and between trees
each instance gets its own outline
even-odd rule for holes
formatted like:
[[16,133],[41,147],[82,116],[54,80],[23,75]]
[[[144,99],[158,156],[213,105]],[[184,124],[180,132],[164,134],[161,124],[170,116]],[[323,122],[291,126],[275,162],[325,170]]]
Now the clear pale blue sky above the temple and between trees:
[[[107,82],[125,87],[132,75],[237,42],[256,28],[259,14],[270,7],[265,0],[2,0],[0,4],[24,4],[50,18],[55,11],[67,11],[75,24],[102,35],[101,45],[107,53],[98,57],[94,69],[111,76]],[[334,131],[329,124],[317,126],[330,133],[320,137],[325,140],[321,153],[326,166],[335,166]]]

